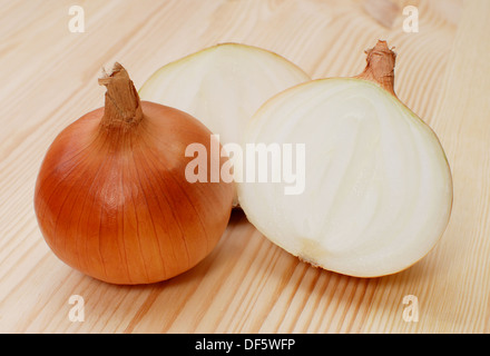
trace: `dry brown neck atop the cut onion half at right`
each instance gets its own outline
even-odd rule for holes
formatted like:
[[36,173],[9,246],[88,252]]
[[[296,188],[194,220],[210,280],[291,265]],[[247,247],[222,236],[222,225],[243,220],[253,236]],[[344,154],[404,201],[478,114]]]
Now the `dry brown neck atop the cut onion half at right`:
[[364,71],[354,78],[370,80],[378,83],[386,91],[396,96],[394,92],[394,66],[396,53],[393,52],[386,41],[378,41],[376,46],[366,50],[367,66]]

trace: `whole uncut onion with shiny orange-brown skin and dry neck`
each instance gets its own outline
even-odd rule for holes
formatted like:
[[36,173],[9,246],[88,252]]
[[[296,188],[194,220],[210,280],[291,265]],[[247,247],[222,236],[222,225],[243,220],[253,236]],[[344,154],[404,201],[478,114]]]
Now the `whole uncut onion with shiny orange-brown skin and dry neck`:
[[[35,208],[42,235],[66,264],[114,284],[182,274],[216,246],[234,186],[189,182],[185,150],[212,132],[174,108],[140,101],[122,66],[99,82],[105,108],[62,130],[39,171]],[[219,166],[227,161],[219,158]]]

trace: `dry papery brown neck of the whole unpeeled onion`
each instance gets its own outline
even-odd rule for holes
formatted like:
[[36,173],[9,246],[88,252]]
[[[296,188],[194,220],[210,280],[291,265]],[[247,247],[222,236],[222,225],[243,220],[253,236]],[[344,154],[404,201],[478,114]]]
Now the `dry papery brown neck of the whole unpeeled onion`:
[[126,69],[116,62],[112,72],[99,79],[106,86],[106,105],[100,125],[129,128],[143,120],[141,103]]

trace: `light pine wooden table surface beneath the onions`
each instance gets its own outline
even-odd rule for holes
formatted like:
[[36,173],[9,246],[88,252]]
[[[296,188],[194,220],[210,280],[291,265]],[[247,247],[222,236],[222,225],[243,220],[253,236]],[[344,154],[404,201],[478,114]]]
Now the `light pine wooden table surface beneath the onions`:
[[[85,32],[70,31],[75,3]],[[419,32],[403,27],[409,4]],[[489,17],[488,0],[1,0],[0,332],[489,333]],[[412,268],[375,279],[316,269],[241,211],[210,256],[155,285],[95,280],[46,245],[37,172],[56,135],[102,106],[102,66],[120,61],[139,88],[171,60],[234,41],[313,78],[354,76],[378,39],[396,48],[399,97],[438,134],[454,179],[448,229]]]

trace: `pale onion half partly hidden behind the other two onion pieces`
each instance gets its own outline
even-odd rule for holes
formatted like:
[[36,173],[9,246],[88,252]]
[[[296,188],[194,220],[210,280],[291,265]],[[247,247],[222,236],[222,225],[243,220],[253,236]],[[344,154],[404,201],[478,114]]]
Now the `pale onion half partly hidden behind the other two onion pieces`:
[[266,100],[307,80],[302,69],[278,55],[223,43],[160,68],[139,96],[190,113],[219,135],[222,144],[239,144],[246,123]]

